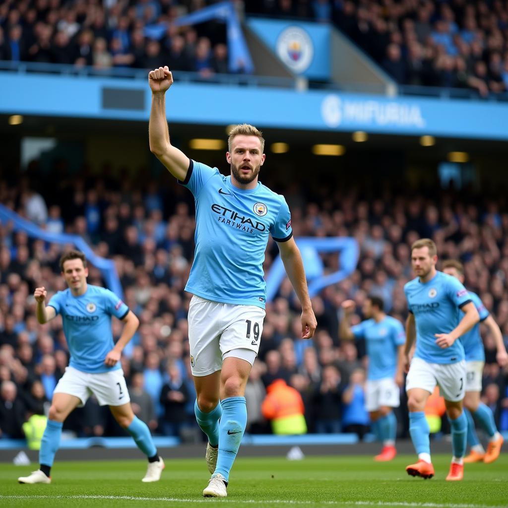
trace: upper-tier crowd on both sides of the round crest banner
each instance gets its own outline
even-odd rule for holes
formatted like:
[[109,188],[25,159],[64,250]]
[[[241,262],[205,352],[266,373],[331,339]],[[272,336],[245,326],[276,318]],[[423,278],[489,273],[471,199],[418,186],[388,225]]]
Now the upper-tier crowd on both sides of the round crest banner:
[[[96,69],[228,73],[224,23],[171,21],[205,0],[3,0],[0,60]],[[479,97],[508,90],[508,7],[501,0],[244,0],[243,15],[333,23],[399,84],[464,88]],[[145,26],[166,22],[160,40]]]

